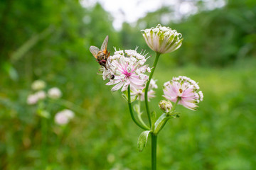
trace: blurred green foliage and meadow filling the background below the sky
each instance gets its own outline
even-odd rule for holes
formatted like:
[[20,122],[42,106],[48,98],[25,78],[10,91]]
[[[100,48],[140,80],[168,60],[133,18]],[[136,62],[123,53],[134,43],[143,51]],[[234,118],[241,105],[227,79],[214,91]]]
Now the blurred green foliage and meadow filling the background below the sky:
[[[170,120],[159,134],[159,169],[256,169],[256,1],[225,1],[207,10],[208,1],[196,1],[198,12],[163,23],[183,35],[183,45],[162,55],[154,78],[159,89],[174,76],[199,82],[204,101],[198,111],[182,106],[181,118]],[[155,27],[174,16],[171,6],[147,13],[137,23],[114,30],[113,17],[100,4],[82,7],[74,0],[0,1],[0,169],[150,169],[150,142],[137,149],[142,132],[130,118],[120,92],[105,86],[100,68],[89,51],[109,35],[108,50],[154,52],[141,29]],[[28,106],[31,83],[57,86],[63,101],[50,107],[48,130],[37,106]],[[75,111],[64,127],[55,125],[55,113]],[[43,120],[43,121],[42,121]],[[146,115],[144,113],[144,120]],[[44,142],[42,142],[44,141]]]

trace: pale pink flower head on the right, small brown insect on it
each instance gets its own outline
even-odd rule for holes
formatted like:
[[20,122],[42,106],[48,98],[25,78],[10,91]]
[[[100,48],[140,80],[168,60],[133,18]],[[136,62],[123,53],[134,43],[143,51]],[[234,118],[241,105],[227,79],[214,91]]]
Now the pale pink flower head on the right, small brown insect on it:
[[[195,110],[196,104],[203,101],[202,91],[198,91],[196,81],[188,77],[174,77],[164,84],[164,98]],[[197,92],[198,91],[198,92]]]

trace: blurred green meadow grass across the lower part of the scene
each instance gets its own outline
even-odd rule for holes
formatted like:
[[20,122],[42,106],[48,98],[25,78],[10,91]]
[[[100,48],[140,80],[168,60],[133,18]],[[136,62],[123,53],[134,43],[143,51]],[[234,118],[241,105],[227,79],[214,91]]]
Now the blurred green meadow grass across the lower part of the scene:
[[[181,118],[169,120],[159,133],[158,169],[255,169],[256,60],[226,68],[170,68],[162,62],[160,58],[154,74],[159,89],[151,110],[161,115],[161,86],[178,75],[198,81],[204,101],[198,111],[178,106]],[[30,82],[14,85],[8,77],[1,79],[0,169],[150,169],[150,142],[139,152],[142,130],[132,122],[120,92],[111,92],[95,74],[96,66],[78,64],[42,78],[85,110],[77,111],[63,130],[53,123],[53,115],[65,107],[53,104],[47,168],[41,159],[41,118],[34,106],[26,105]],[[145,112],[143,118],[146,122]]]

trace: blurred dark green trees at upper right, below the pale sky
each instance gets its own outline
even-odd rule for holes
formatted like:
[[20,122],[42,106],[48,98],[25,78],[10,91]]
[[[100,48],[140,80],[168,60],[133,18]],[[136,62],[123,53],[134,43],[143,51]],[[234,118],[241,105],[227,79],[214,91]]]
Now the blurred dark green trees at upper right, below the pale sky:
[[[255,56],[255,1],[228,1],[223,8],[212,11],[203,7],[203,1],[197,3],[200,13],[183,18],[179,23],[164,24],[178,30],[184,38],[183,47],[171,54],[174,57],[169,57],[167,63],[175,60],[178,64],[225,66]],[[137,27],[145,26],[145,23],[145,28],[156,26],[163,15],[171,18],[172,13],[166,8],[148,13],[137,22]]]

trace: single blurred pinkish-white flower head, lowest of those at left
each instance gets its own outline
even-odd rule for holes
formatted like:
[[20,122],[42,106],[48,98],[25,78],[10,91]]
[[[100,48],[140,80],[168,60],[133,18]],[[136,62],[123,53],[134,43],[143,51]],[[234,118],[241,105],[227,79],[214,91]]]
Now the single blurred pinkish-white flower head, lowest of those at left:
[[69,123],[70,119],[74,117],[74,115],[75,114],[73,113],[73,111],[65,109],[56,113],[54,120],[55,123],[57,123],[58,125],[66,125],[67,123]]

